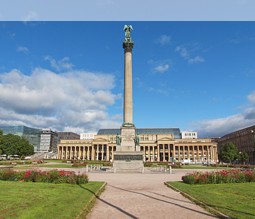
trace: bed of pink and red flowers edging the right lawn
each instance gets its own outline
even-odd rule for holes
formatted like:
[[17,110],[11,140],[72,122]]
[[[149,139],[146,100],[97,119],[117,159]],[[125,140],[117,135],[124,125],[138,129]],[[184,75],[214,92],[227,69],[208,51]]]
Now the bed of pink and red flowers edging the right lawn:
[[220,184],[255,182],[255,170],[221,170],[217,172],[195,172],[182,177],[187,184]]

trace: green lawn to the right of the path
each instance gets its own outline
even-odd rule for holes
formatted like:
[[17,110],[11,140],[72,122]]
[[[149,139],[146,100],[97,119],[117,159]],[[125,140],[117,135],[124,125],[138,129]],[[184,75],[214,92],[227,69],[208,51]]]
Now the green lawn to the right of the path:
[[167,184],[194,197],[231,218],[255,218],[255,183],[189,185]]

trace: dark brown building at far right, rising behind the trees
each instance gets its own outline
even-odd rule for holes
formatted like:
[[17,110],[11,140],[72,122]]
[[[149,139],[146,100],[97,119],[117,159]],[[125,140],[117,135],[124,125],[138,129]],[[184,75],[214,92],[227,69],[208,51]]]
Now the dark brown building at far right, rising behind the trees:
[[248,154],[248,163],[255,164],[255,125],[221,137],[218,142],[219,150],[228,142],[234,143],[239,152]]

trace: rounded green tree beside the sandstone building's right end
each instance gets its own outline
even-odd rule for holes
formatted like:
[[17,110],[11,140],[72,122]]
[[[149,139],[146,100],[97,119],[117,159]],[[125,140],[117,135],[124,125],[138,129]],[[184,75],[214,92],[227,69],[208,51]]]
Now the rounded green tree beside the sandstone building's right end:
[[228,142],[220,148],[219,160],[225,163],[232,163],[234,160],[238,159],[237,147],[234,143]]

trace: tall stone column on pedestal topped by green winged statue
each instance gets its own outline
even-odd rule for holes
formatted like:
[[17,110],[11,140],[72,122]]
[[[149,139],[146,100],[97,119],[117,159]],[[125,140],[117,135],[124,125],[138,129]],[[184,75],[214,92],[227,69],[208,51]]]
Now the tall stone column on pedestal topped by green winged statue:
[[136,135],[133,124],[132,49],[134,42],[130,35],[132,30],[131,25],[124,26],[124,112],[120,135],[116,136],[116,151],[113,152],[114,172],[122,170],[143,172],[144,170],[144,155],[140,152],[139,136]]

